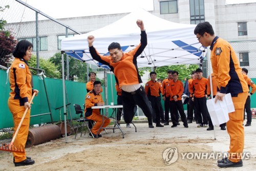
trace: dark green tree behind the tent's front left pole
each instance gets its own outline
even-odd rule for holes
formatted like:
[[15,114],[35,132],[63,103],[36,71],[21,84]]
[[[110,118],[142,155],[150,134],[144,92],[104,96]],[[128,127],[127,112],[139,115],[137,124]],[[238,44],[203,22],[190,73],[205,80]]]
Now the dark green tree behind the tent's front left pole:
[[[54,63],[57,67],[57,70],[62,73],[62,66],[61,66],[61,53],[54,54],[53,57],[50,58],[50,61]],[[64,65],[67,65],[67,55],[64,54]],[[89,72],[91,69],[89,69]],[[77,77],[77,81],[86,82],[87,78],[87,65],[86,63],[76,60],[74,58],[69,58],[69,74],[70,80],[75,80]],[[67,77],[67,70],[65,68],[65,78]]]

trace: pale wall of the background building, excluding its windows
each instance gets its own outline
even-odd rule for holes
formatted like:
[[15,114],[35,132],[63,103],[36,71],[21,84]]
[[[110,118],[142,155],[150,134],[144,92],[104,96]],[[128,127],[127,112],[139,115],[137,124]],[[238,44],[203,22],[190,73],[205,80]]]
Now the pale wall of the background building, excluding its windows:
[[[189,0],[178,0],[178,13],[175,14],[160,14],[161,1],[167,0],[154,0],[154,11],[150,11],[152,14],[173,22],[190,23]],[[223,0],[204,0],[204,12],[205,20],[209,21],[214,27],[216,35],[227,41],[256,40],[256,3],[226,5]],[[80,33],[87,33],[107,26],[125,15],[127,15],[127,13],[81,16],[58,20]],[[247,22],[247,36],[238,36],[238,22],[241,21]],[[57,36],[65,35],[66,28],[49,19],[40,20],[38,22],[38,27],[39,35],[48,37],[48,51],[40,51],[39,56],[50,58],[55,53],[60,52],[56,48],[58,43]],[[13,32],[16,33],[16,38],[35,37],[34,21],[8,23],[6,28],[13,29]],[[69,30],[69,34],[75,33]],[[237,55],[239,55],[240,52],[249,52],[250,65],[246,66],[246,68],[249,70],[249,76],[256,78],[256,68],[254,67],[256,65],[256,58],[254,58],[256,55],[255,42],[232,42],[231,44],[234,46]]]

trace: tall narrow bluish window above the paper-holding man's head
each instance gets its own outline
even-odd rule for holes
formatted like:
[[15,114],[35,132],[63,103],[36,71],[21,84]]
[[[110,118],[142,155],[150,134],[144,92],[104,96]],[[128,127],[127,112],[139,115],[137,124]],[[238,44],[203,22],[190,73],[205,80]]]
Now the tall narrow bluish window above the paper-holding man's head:
[[204,22],[204,0],[189,0],[189,6],[191,25],[197,25],[200,22]]

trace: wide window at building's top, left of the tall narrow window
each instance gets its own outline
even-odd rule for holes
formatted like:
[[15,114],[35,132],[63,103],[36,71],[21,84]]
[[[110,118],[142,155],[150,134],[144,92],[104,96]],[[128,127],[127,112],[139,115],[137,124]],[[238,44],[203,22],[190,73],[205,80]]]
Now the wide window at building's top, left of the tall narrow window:
[[160,2],[160,14],[178,13],[177,0]]

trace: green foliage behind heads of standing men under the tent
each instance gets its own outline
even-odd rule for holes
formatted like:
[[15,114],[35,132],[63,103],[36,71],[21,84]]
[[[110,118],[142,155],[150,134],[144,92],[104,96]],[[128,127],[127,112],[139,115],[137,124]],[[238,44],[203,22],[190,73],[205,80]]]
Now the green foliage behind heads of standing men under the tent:
[[184,78],[190,78],[191,72],[199,68],[198,65],[171,65],[171,66],[161,66],[156,68],[157,78],[165,79],[167,78],[168,70],[176,70],[179,72],[179,80],[183,81]]

